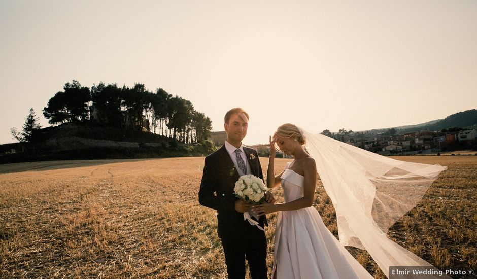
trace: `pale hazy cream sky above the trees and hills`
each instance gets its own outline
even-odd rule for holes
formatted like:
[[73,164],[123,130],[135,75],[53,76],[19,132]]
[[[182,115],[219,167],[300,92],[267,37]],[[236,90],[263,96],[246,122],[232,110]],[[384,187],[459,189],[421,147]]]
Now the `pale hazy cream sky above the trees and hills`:
[[0,144],[66,82],[144,83],[246,144],[417,124],[477,108],[477,1],[0,0]]

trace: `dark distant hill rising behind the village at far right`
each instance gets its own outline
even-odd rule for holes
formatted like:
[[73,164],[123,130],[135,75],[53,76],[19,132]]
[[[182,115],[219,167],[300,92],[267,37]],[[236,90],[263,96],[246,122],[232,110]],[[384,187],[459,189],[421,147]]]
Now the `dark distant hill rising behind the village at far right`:
[[372,129],[372,130],[366,130],[363,132],[383,133],[391,128],[395,128],[398,133],[408,133],[408,132],[414,132],[420,129],[429,129],[429,130],[439,131],[442,129],[449,129],[453,127],[475,128],[476,125],[477,125],[477,110],[468,110],[468,111],[458,112],[458,113],[449,115],[448,117],[444,119],[432,120],[426,123],[399,126],[399,127]]

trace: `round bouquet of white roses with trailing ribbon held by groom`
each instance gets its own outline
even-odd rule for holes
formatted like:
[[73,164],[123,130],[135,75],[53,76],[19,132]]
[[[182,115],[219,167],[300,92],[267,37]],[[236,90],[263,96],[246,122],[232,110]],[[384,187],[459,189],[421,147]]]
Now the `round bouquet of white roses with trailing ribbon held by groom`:
[[[235,196],[237,198],[258,204],[265,201],[265,193],[268,191],[268,188],[266,188],[263,180],[260,178],[254,175],[245,175],[238,178],[233,190],[235,191]],[[244,213],[244,220],[248,220],[250,225],[257,226],[259,229],[263,230],[263,228],[258,225],[258,222],[253,220],[250,215],[258,220],[257,214],[251,211]]]

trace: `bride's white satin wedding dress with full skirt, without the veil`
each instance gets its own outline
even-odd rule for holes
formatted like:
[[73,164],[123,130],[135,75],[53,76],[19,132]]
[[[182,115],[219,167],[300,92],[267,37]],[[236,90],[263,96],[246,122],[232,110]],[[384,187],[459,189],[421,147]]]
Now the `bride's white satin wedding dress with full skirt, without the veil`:
[[[285,202],[303,197],[304,177],[285,166]],[[372,278],[323,223],[313,207],[278,213],[274,269],[277,279]],[[273,278],[273,276],[272,276]]]

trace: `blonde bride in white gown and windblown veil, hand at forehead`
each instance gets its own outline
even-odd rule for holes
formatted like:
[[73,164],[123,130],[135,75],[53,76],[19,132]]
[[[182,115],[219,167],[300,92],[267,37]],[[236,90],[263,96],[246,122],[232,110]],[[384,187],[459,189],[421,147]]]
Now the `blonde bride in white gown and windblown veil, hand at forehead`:
[[[259,204],[253,211],[279,212],[272,278],[372,278],[344,246],[366,249],[388,278],[392,266],[436,270],[387,238],[386,231],[446,167],[394,160],[289,123],[269,142],[267,187],[281,185],[285,202]],[[294,157],[278,176],[275,145]],[[317,172],[336,211],[339,241],[312,206]]]

